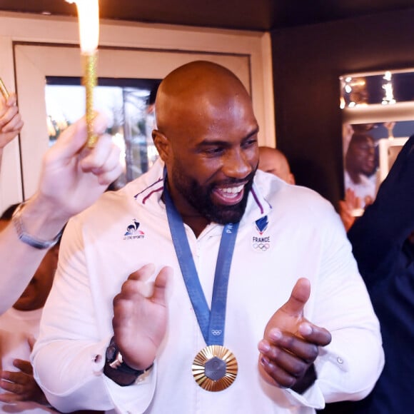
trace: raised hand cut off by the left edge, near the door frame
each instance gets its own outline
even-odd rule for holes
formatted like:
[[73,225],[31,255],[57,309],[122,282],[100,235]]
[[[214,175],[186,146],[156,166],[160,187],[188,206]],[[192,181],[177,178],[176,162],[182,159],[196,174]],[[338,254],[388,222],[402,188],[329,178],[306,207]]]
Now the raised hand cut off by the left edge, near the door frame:
[[3,148],[20,133],[23,121],[16,106],[16,94],[5,98],[0,94],[0,171]]

